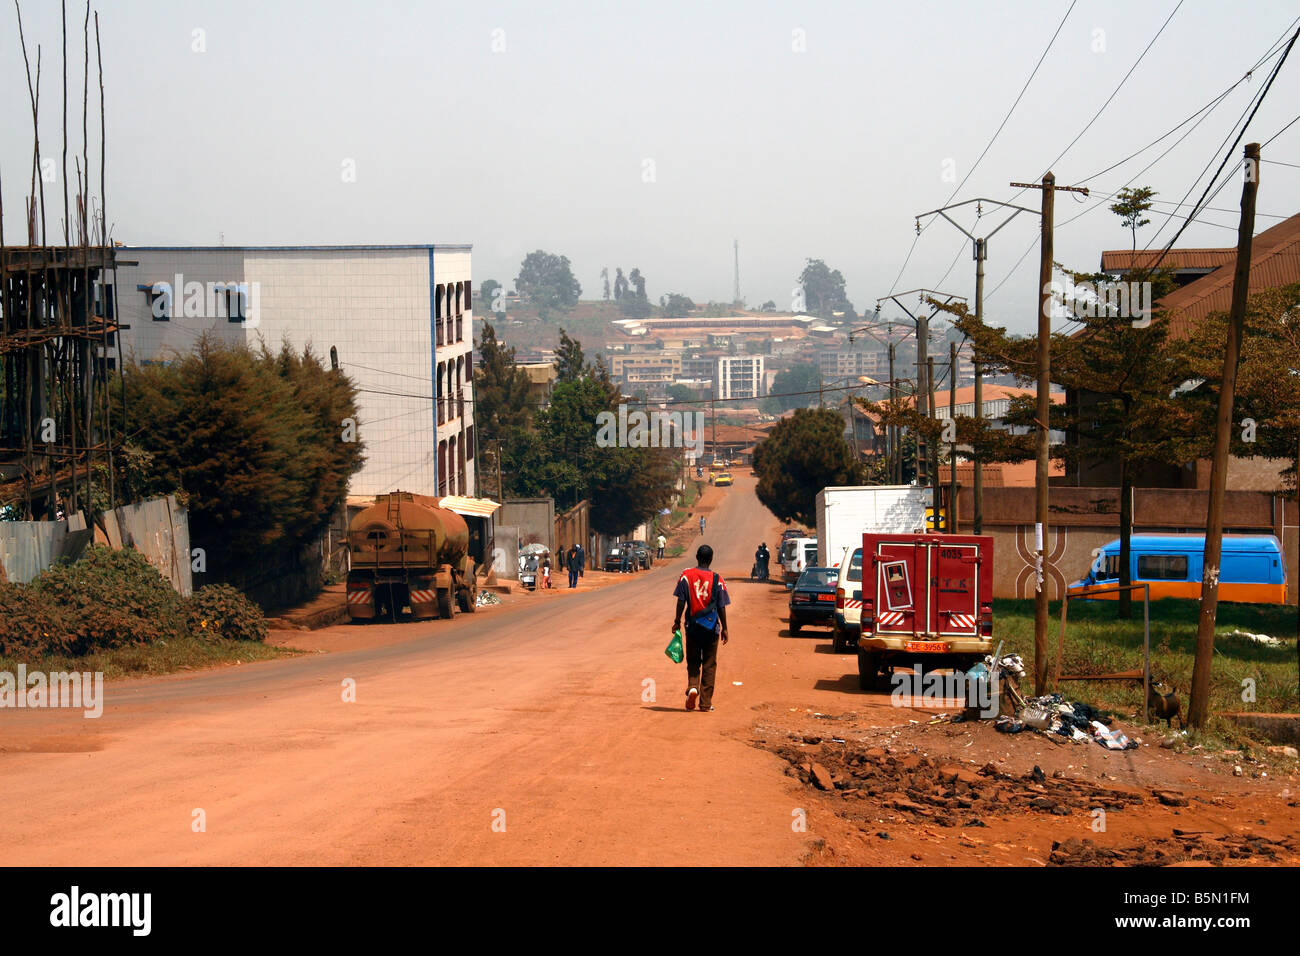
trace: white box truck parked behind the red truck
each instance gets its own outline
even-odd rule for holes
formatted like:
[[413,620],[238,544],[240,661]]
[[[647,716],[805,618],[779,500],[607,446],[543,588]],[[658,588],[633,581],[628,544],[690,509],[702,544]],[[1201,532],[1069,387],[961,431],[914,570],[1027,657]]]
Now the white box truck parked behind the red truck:
[[845,549],[870,532],[915,535],[926,529],[931,489],[918,485],[846,485],[816,493],[816,561],[838,567]]

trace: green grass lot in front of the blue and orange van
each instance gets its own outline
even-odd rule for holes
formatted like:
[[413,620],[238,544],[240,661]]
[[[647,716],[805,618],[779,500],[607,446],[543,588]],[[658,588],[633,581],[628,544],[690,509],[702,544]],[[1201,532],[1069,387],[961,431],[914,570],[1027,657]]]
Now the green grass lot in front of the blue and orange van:
[[[1061,602],[1049,604],[1048,669],[1056,661],[1061,633]],[[1178,688],[1186,713],[1192,684],[1196,652],[1196,622],[1200,602],[1164,598],[1150,602],[1152,675]],[[993,601],[994,644],[1002,653],[1017,653],[1034,670],[1034,601]],[[1282,640],[1268,646],[1231,631],[1266,633]],[[1240,745],[1249,737],[1218,711],[1296,713],[1296,609],[1288,605],[1221,604],[1216,623],[1214,665],[1210,670],[1210,711],[1206,728],[1193,737],[1206,745]],[[1066,620],[1062,674],[1104,674],[1140,670],[1143,648],[1143,607],[1134,602],[1132,620],[1115,617],[1113,601],[1071,601]],[[1252,680],[1254,701],[1244,702],[1244,682]],[[1032,679],[1028,682],[1032,684]],[[1032,685],[1026,688],[1032,691]],[[1062,683],[1065,695],[1141,718],[1141,687],[1132,682],[1071,680]],[[1164,726],[1164,724],[1161,724]]]

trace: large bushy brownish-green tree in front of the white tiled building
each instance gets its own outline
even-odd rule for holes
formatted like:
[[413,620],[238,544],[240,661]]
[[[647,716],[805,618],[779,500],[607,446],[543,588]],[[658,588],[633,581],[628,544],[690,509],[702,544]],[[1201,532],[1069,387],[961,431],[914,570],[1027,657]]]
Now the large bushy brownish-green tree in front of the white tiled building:
[[185,497],[209,581],[247,580],[273,564],[269,553],[315,540],[363,464],[356,388],[309,349],[257,354],[204,337],[124,377],[136,457],[156,488]]

